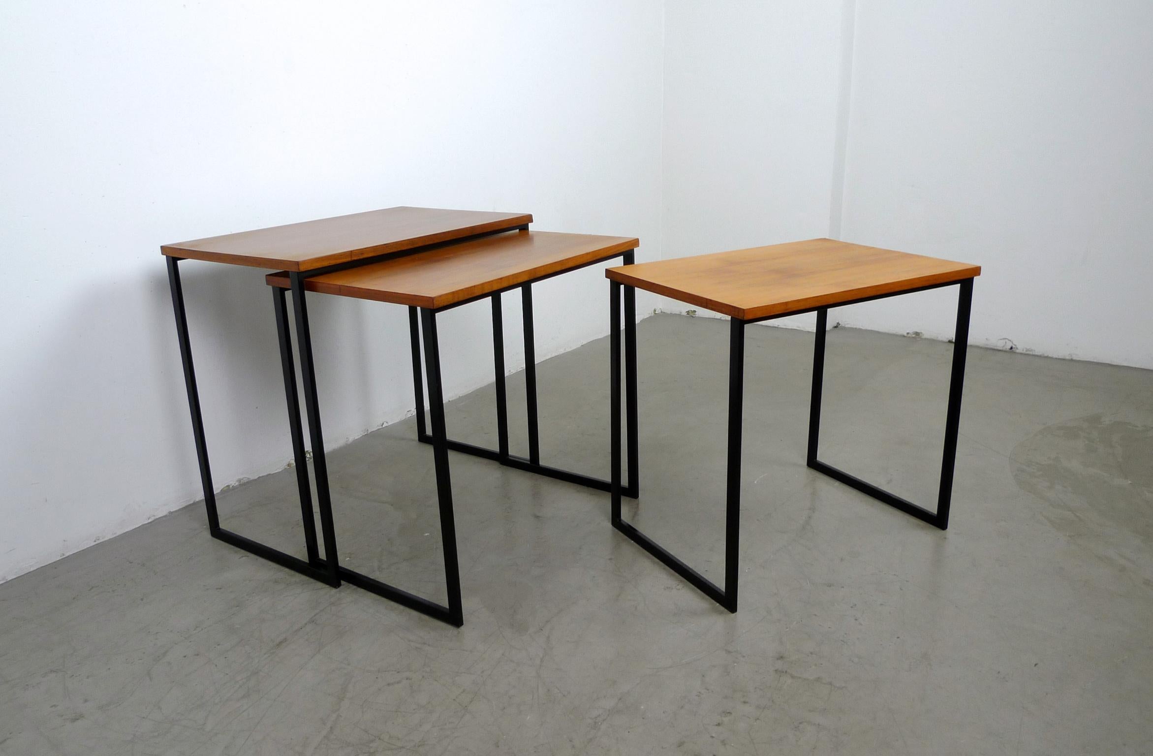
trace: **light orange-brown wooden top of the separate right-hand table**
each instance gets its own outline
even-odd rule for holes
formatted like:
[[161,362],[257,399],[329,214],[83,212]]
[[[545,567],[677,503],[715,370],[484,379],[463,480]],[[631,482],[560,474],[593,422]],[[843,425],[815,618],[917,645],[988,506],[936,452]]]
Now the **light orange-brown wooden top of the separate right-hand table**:
[[611,280],[741,320],[980,275],[979,265],[831,239],[610,267]]

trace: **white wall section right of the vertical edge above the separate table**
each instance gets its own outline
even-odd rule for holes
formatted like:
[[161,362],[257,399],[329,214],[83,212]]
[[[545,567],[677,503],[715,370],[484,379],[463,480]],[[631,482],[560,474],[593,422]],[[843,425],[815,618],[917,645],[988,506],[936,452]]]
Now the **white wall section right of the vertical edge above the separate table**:
[[[858,0],[842,237],[980,263],[974,343],[1153,368],[1151,30],[1148,0]],[[943,337],[955,308],[837,318]]]

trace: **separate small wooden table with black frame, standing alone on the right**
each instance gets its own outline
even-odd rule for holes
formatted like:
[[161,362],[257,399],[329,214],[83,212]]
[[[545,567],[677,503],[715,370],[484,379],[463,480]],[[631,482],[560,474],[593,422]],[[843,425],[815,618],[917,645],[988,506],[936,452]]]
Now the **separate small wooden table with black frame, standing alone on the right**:
[[[740,446],[745,375],[745,326],[787,315],[816,312],[813,353],[813,390],[809,399],[808,467],[862,493],[944,530],[949,526],[960,395],[965,379],[965,347],[973,279],[981,269],[934,257],[815,239],[731,252],[683,257],[610,267],[612,351],[612,526],[730,612],[737,611],[738,551],[740,532]],[[816,458],[821,425],[821,383],[824,373],[824,339],[831,307],[869,302],[899,294],[957,285],[957,325],[952,372],[945,414],[944,454],[936,511],[929,511],[872,483],[838,470]],[[729,449],[725,487],[725,577],[721,588],[620,516],[620,288],[626,302],[634,288],[714,310],[731,318],[729,330]],[[635,371],[635,368],[633,368]],[[634,379],[635,380],[635,379]],[[630,395],[630,400],[633,396]],[[635,402],[631,402],[634,405]],[[635,410],[630,410],[631,413]],[[632,418],[631,418],[632,419]],[[631,423],[635,425],[635,421]],[[630,469],[635,452],[630,451]]]

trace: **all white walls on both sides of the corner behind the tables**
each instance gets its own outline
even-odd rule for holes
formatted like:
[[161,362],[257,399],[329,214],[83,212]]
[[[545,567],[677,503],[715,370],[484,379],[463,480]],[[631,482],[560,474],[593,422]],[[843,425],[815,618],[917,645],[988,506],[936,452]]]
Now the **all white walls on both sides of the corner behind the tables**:
[[[834,236],[981,263],[975,343],[1153,368],[1150,28],[1146,0],[9,0],[0,580],[199,497],[165,242],[397,204],[636,235],[640,260]],[[262,274],[183,271],[216,483],[276,470]],[[603,296],[598,270],[542,285],[538,356],[604,334]],[[476,307],[444,320],[450,396],[491,380]],[[412,411],[405,310],[311,311],[327,443]]]

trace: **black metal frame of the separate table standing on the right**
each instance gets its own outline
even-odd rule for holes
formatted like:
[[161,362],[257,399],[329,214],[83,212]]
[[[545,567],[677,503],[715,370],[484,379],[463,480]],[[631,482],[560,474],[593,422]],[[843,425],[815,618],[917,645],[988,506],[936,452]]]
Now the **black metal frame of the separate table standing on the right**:
[[[611,378],[611,425],[612,425],[612,527],[623,532],[630,539],[640,545],[645,551],[653,554],[657,560],[684,577],[694,588],[721,604],[730,612],[737,611],[737,588],[738,588],[738,565],[740,547],[740,453],[741,453],[741,413],[744,405],[745,383],[745,326],[749,323],[761,323],[786,315],[798,315],[800,312],[816,312],[816,338],[813,351],[813,390],[809,398],[809,425],[808,447],[806,453],[806,464],[819,472],[839,481],[858,491],[866,493],[884,504],[888,504],[902,512],[922,520],[941,530],[949,527],[949,506],[952,497],[952,477],[957,458],[957,436],[960,424],[960,399],[965,381],[965,350],[969,343],[969,318],[973,302],[973,279],[960,281],[949,281],[935,284],[892,294],[881,294],[877,296],[861,297],[851,302],[843,302],[837,307],[859,304],[873,300],[911,294],[913,292],[925,292],[944,286],[958,286],[957,297],[957,324],[954,335],[952,369],[949,377],[949,405],[945,414],[944,453],[941,461],[941,486],[937,494],[937,509],[929,512],[911,501],[907,501],[894,493],[884,491],[872,483],[867,483],[858,477],[849,475],[816,458],[817,441],[821,426],[821,392],[824,376],[824,342],[828,326],[828,307],[811,308],[797,312],[784,315],[773,315],[763,318],[741,320],[731,318],[729,331],[729,443],[728,443],[728,471],[725,483],[725,582],[721,588],[689,567],[687,564],[675,557],[666,549],[638,530],[634,526],[625,522],[620,516],[620,288],[624,286],[624,298],[626,316],[632,307],[635,296],[634,287],[611,281],[610,290],[610,350],[612,353],[612,378]],[[634,361],[632,365],[633,383],[627,387],[630,394],[630,423],[635,428],[635,346],[626,360]],[[634,464],[636,451],[628,449],[630,467]]]

